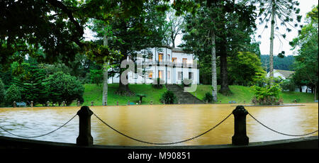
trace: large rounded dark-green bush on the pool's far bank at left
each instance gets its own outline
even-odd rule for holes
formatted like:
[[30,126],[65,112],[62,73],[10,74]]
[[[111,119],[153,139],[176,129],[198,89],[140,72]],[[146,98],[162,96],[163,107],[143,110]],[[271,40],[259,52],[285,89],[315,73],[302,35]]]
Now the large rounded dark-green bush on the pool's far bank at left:
[[62,103],[65,101],[67,106],[73,100],[82,99],[84,93],[84,86],[69,74],[57,72],[50,75],[47,79],[47,90],[49,91],[50,101],[53,103]]

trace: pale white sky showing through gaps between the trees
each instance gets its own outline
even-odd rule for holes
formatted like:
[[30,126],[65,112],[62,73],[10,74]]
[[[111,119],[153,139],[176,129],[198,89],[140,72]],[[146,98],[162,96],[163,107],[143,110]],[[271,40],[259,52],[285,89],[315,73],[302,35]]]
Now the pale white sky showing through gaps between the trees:
[[[298,8],[300,9],[299,15],[302,16],[301,23],[299,25],[304,25],[305,23],[305,18],[306,18],[306,13],[311,11],[313,9],[313,6],[318,5],[318,0],[298,0],[299,1],[299,6]],[[257,30],[254,35],[254,38],[256,41],[260,42],[259,49],[262,55],[269,55],[269,48],[270,48],[270,23],[269,23],[269,28],[264,30],[264,24],[261,26],[259,25],[259,18],[256,20],[256,25],[257,25]],[[286,30],[286,28],[280,28],[282,30]],[[262,32],[262,30],[264,30]],[[298,55],[296,53],[296,50],[291,50],[291,46],[289,45],[289,42],[293,40],[293,38],[296,38],[298,36],[298,28],[291,28],[291,32],[287,33],[286,32],[286,39],[281,38],[281,41],[279,41],[279,38],[274,38],[274,55],[277,55],[281,51],[285,51],[285,55]],[[92,33],[89,29],[86,28],[85,30],[85,40],[91,40],[94,39],[94,33]],[[258,38],[258,35],[262,35],[262,38]],[[182,35],[177,35],[177,38],[175,40],[175,46],[177,47],[178,45],[181,44],[181,37]],[[253,37],[253,36],[252,36]]]

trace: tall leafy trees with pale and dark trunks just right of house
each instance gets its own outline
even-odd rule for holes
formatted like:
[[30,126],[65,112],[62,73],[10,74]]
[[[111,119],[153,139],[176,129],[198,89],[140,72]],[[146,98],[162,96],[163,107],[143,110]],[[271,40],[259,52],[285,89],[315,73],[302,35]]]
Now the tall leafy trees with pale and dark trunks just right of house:
[[[237,32],[234,29],[240,28],[249,33],[250,28],[254,25],[253,6],[245,6],[245,4],[234,4],[233,1],[206,1],[202,2],[201,8],[195,16],[186,16],[186,34],[183,36],[185,43],[181,45],[184,49],[194,52],[199,59],[200,69],[202,69],[208,56],[211,57],[211,79],[212,79],[212,95],[214,101],[217,101],[217,68],[216,58],[219,56],[220,61],[220,93],[224,95],[230,94],[228,88],[228,69],[227,57],[232,54],[228,49],[237,53],[242,42],[241,39],[234,38]],[[240,23],[241,22],[241,23]],[[231,33],[236,33],[235,35]],[[245,39],[250,37],[245,35]],[[232,43],[233,40],[240,40]],[[237,44],[237,45],[236,45]],[[229,47],[229,48],[228,48]],[[208,55],[209,54],[209,55]]]

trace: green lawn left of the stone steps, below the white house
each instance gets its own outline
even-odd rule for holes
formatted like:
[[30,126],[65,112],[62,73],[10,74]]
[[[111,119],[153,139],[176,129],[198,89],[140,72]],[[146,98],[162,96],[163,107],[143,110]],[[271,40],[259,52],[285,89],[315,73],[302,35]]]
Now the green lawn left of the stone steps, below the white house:
[[[102,84],[99,86],[96,84],[84,84],[84,103],[82,105],[91,106],[91,101],[94,101],[94,106],[102,105]],[[142,104],[149,104],[153,101],[153,104],[159,104],[159,99],[162,94],[167,90],[165,86],[162,89],[155,89],[150,84],[130,84],[129,88],[135,94],[145,94],[146,97],[142,99]],[[140,98],[138,96],[121,96],[115,94],[118,89],[118,84],[108,84],[108,105],[115,106],[116,101],[119,105],[126,105],[128,101],[137,103]],[[72,103],[75,106],[76,103]]]

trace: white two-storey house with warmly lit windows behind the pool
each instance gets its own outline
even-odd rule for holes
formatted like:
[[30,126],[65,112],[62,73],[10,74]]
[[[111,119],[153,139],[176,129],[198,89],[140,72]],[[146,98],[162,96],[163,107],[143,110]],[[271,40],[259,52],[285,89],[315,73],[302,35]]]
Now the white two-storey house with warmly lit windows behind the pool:
[[[182,79],[199,83],[199,69],[194,54],[179,48],[152,47],[137,52],[135,61],[138,72],[128,72],[128,83],[150,84],[154,79],[162,79],[163,84],[181,84]],[[111,70],[111,69],[110,69]],[[118,83],[119,75],[108,79],[108,83]]]

